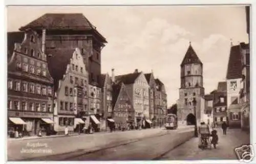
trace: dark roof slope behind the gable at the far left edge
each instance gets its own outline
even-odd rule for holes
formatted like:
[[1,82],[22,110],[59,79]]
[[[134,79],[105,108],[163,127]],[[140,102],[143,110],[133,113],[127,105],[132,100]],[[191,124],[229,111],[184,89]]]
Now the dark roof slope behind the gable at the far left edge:
[[24,32],[8,32],[7,33],[7,56],[10,58],[14,50],[15,43],[22,43],[24,39]]

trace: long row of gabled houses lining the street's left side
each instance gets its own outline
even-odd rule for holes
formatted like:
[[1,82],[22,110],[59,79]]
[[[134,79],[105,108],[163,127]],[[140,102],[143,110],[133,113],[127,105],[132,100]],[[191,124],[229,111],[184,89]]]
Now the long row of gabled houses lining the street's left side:
[[[82,14],[45,14],[9,32],[8,130],[62,134],[164,122],[167,96],[153,72],[101,74],[105,38]],[[153,122],[153,124],[152,124]]]

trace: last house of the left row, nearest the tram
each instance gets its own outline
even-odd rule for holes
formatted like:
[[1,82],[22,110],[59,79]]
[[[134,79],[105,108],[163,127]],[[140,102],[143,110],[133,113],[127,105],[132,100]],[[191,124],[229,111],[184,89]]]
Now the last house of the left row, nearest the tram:
[[156,82],[156,94],[155,94],[155,116],[156,126],[163,126],[165,123],[165,115],[167,113],[167,94],[165,91],[164,84],[159,80],[155,79]]

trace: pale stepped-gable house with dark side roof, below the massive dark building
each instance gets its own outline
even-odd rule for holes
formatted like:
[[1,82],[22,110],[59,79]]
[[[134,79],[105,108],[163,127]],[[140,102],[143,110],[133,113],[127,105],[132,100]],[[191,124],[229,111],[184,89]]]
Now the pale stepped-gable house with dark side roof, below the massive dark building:
[[80,50],[49,49],[49,71],[54,79],[54,130],[63,134],[68,127],[73,133],[88,111],[88,72]]

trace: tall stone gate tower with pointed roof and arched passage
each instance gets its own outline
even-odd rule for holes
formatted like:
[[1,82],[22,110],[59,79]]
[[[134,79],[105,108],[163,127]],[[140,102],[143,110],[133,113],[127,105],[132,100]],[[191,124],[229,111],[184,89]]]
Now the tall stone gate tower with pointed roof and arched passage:
[[[204,110],[203,63],[190,42],[180,68],[180,96],[177,102],[178,119],[179,121],[186,121],[187,124],[195,124],[196,115],[199,123]],[[196,100],[196,105],[193,100]]]

